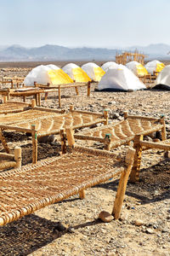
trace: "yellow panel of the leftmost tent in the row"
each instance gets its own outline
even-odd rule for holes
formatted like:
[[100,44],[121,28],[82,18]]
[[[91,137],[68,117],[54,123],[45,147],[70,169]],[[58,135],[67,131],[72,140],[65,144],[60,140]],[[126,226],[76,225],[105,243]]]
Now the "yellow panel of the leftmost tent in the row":
[[70,84],[73,80],[62,69],[48,70],[48,76],[51,80],[51,84]]

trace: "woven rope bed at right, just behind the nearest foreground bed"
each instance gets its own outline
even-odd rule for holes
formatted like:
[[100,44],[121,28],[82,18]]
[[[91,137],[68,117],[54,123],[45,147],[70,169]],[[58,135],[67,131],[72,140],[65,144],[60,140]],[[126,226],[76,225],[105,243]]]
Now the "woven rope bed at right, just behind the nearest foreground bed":
[[165,121],[162,118],[127,115],[124,120],[115,125],[104,125],[88,131],[81,131],[74,135],[77,139],[93,140],[105,143],[105,148],[116,148],[129,143],[135,135],[148,135],[154,131],[162,131],[165,138]]

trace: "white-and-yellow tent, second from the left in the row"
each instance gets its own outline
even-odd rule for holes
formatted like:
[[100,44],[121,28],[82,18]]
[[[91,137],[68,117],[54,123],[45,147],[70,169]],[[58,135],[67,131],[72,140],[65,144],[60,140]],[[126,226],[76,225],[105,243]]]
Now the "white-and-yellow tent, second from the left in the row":
[[62,67],[62,70],[67,73],[75,82],[91,81],[91,79],[88,77],[88,74],[85,73],[81,67],[78,67],[74,63],[66,64],[65,67]]

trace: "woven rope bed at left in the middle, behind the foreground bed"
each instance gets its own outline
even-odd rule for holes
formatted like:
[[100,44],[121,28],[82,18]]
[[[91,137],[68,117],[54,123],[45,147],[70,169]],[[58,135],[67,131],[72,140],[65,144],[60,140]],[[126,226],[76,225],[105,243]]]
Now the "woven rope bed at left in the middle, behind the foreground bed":
[[101,122],[107,122],[107,113],[93,113],[77,111],[71,108],[69,113],[56,114],[48,111],[40,111],[41,107],[27,110],[23,113],[14,113],[0,118],[0,139],[6,152],[9,153],[8,145],[3,136],[4,130],[31,133],[32,136],[32,162],[37,162],[37,138],[52,134],[66,126],[73,129],[88,127]]

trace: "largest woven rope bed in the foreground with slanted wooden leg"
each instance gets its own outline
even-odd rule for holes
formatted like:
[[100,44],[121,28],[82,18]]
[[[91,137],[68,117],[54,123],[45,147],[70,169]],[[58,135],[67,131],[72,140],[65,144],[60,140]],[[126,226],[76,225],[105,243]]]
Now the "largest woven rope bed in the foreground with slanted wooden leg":
[[60,157],[0,173],[0,225],[122,175],[112,212],[118,218],[134,151],[129,149],[125,163],[114,153],[75,146]]

